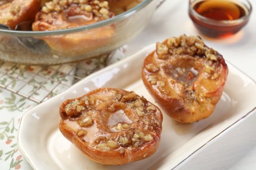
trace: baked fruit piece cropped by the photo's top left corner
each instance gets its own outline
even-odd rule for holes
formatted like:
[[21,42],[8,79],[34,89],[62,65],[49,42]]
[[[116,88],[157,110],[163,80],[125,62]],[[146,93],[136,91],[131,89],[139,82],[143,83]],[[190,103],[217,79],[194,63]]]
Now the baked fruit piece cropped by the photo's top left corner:
[[10,0],[0,2],[0,24],[12,29],[21,22],[33,22],[39,11],[39,0]]

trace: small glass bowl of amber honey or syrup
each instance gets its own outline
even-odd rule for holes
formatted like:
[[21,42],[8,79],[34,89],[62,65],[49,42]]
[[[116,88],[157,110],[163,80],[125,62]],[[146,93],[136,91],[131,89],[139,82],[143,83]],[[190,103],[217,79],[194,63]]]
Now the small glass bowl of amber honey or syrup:
[[247,24],[251,10],[247,0],[190,0],[188,14],[203,35],[225,38]]

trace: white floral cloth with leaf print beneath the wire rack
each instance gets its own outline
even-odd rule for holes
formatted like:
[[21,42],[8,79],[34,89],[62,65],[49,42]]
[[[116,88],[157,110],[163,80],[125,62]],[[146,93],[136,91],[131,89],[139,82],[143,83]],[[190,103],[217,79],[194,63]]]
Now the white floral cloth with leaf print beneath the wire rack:
[[32,169],[17,146],[22,115],[68,89],[81,78],[124,58],[120,48],[102,58],[54,66],[18,65],[0,61],[0,167]]

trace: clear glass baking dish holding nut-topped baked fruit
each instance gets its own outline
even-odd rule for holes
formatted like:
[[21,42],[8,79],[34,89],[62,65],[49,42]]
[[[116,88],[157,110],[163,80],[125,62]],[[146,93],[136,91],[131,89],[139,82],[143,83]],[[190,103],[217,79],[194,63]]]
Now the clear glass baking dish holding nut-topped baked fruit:
[[[0,5],[9,2],[1,1]],[[24,2],[20,3],[23,7]],[[31,14],[32,21],[15,27],[1,18],[0,59],[54,65],[105,58],[146,27],[156,1],[41,0],[39,7],[35,8],[38,13]]]

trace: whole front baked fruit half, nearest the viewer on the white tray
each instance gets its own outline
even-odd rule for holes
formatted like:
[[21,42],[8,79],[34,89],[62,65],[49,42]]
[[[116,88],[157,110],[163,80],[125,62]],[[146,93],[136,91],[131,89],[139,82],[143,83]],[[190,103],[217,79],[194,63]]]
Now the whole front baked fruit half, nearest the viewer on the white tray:
[[148,158],[160,143],[161,111],[135,92],[99,88],[64,101],[60,116],[64,137],[105,165]]

